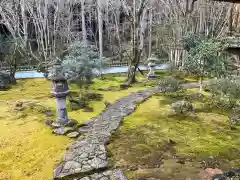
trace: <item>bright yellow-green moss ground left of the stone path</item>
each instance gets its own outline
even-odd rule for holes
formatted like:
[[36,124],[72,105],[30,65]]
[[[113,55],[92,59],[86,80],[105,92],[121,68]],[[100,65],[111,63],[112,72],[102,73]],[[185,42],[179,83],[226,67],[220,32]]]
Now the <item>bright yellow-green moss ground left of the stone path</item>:
[[[124,76],[107,76],[96,79],[89,91],[103,94],[102,101],[93,101],[94,112],[71,111],[69,117],[79,123],[97,116],[104,108],[104,101],[113,103],[143,86],[111,91],[118,87]],[[101,91],[98,89],[102,89]],[[78,91],[71,85],[72,91]],[[50,180],[53,169],[62,159],[71,140],[52,134],[44,124],[46,109],[55,112],[55,99],[50,96],[51,82],[45,79],[19,80],[9,91],[0,91],[0,179],[1,180]],[[17,102],[32,103],[34,109],[14,111]],[[53,117],[54,119],[54,117]]]

